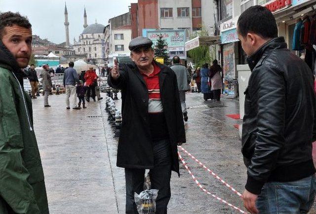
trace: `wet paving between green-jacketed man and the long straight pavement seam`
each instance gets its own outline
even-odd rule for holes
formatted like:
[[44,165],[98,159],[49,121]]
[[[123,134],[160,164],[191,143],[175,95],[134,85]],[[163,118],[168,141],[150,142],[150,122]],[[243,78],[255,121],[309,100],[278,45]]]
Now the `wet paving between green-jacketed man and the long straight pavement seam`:
[[66,110],[65,94],[33,100],[35,133],[51,214],[118,213],[98,102]]

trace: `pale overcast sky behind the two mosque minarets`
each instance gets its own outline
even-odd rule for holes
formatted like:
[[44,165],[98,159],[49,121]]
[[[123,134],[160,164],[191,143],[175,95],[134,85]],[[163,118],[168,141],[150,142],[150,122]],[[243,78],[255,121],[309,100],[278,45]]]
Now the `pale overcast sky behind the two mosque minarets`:
[[[73,43],[83,31],[84,6],[88,25],[108,25],[110,18],[128,12],[128,6],[137,0],[66,0],[69,39]],[[0,0],[0,11],[20,12],[29,18],[33,35],[54,43],[65,42],[65,0]]]

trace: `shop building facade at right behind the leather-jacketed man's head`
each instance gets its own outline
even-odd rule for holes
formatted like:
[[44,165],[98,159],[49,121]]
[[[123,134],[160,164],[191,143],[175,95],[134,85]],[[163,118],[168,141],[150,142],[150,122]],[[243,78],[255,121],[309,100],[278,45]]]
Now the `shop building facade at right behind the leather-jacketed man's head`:
[[[221,35],[219,60],[225,79],[225,94],[238,95],[237,88],[234,87],[234,82],[238,79],[237,65],[247,64],[236,30],[238,17],[247,8],[253,5],[266,6],[276,18],[278,36],[283,36],[288,48],[302,59],[309,54],[306,48],[314,45],[307,43],[295,48],[293,35],[297,24],[303,20],[315,19],[316,0],[218,0],[217,4]],[[315,62],[310,67],[315,73]]]

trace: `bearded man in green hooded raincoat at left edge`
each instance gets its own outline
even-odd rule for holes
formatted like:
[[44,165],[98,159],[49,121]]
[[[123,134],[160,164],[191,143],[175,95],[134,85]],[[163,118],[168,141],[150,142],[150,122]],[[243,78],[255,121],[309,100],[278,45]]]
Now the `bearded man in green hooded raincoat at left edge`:
[[22,68],[32,52],[32,29],[19,13],[0,13],[0,214],[48,214],[32,102]]

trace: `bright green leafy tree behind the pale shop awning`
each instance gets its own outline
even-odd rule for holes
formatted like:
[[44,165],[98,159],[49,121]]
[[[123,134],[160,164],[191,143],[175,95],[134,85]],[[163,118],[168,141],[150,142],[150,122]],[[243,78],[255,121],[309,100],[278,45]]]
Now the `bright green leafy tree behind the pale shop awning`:
[[[201,31],[196,36],[208,36],[207,30],[202,27]],[[200,45],[197,48],[188,51],[188,57],[193,60],[196,68],[202,67],[205,63],[210,64],[216,59],[216,47],[215,45]]]

